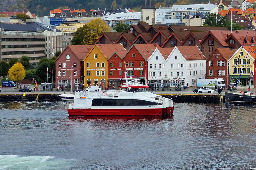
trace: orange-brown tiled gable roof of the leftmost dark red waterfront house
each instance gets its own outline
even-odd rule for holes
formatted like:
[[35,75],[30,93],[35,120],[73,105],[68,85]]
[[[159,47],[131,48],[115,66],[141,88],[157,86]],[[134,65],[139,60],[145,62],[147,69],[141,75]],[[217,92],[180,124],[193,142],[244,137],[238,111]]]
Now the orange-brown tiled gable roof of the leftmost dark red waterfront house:
[[[75,56],[80,60],[83,61],[83,59],[86,57],[86,55],[89,53],[89,51],[92,49],[93,45],[68,45],[66,48],[61,52],[61,54],[69,48]],[[56,58],[55,61],[59,59],[61,54]]]

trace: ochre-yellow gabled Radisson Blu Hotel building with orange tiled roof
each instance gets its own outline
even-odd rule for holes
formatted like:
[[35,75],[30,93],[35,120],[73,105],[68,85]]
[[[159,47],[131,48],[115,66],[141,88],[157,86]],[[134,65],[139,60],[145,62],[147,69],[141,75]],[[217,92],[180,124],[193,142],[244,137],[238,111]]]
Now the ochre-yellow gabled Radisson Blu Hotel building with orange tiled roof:
[[108,58],[118,51],[126,51],[122,44],[95,44],[83,59],[85,84],[105,87],[108,81]]

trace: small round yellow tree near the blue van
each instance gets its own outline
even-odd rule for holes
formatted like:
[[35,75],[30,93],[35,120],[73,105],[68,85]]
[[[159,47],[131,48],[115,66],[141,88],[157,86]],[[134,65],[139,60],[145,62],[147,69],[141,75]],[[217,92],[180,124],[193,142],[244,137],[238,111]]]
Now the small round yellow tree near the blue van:
[[10,68],[8,74],[12,81],[17,82],[25,78],[26,70],[21,63],[17,62]]

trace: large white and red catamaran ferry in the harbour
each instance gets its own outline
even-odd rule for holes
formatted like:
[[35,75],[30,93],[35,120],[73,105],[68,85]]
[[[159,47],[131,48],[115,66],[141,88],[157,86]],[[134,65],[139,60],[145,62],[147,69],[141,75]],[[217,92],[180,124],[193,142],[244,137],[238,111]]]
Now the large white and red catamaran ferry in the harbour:
[[146,91],[148,85],[128,81],[115,91],[77,92],[74,103],[69,104],[70,116],[138,116],[173,113],[171,99]]

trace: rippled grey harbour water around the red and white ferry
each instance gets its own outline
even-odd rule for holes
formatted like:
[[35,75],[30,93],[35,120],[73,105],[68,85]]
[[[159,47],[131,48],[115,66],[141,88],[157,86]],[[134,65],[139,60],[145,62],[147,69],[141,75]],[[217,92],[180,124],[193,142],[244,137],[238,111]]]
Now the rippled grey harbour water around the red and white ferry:
[[256,167],[256,106],[174,105],[170,118],[74,118],[68,102],[0,103],[0,170]]

